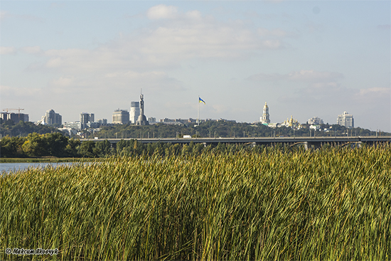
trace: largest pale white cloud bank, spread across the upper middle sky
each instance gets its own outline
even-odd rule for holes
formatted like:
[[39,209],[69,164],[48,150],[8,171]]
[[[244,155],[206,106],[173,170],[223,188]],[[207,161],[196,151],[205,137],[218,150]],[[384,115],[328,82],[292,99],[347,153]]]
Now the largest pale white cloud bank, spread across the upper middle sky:
[[[59,73],[107,73],[111,70],[161,70],[180,66],[189,59],[242,59],[264,49],[283,48],[286,32],[257,30],[243,21],[219,22],[197,10],[181,13],[175,6],[148,10],[151,18],[170,18],[153,23],[132,35],[122,35],[93,50],[46,50],[45,68]],[[196,21],[195,21],[196,20]],[[31,48],[30,51],[38,51]]]

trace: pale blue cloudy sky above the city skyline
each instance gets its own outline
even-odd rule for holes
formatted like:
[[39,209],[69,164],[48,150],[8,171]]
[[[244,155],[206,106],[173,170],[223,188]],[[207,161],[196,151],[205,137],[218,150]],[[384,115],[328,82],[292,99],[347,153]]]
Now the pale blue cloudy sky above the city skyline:
[[[1,110],[391,132],[390,1],[0,1]],[[205,101],[198,103],[198,97]],[[17,112],[17,111],[12,111]]]

